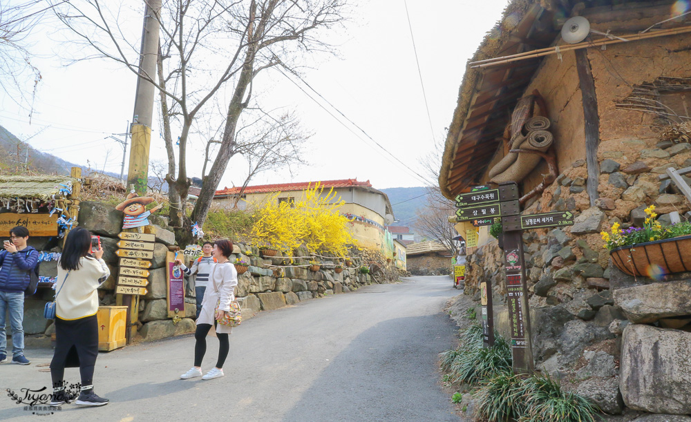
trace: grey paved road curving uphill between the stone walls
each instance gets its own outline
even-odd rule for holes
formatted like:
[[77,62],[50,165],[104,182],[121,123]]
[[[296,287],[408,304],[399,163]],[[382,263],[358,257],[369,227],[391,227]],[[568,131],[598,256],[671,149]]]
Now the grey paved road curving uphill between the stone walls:
[[[442,306],[458,291],[448,277],[406,278],[349,294],[261,312],[235,329],[226,376],[182,381],[193,336],[102,353],[95,390],[111,403],[66,405],[48,421],[459,421],[439,386],[437,354],[453,346]],[[202,370],[216,361],[209,345]],[[39,372],[52,352],[27,352],[32,365],[0,365],[0,387],[50,383]],[[67,381],[79,381],[77,369]],[[0,420],[37,418],[0,397]]]

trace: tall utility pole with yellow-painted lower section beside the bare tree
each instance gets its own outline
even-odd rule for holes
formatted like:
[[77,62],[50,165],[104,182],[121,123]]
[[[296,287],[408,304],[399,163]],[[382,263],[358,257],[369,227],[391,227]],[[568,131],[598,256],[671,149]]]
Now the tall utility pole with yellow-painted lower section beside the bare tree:
[[134,186],[136,193],[146,195],[146,181],[149,175],[149,148],[151,147],[151,122],[153,119],[153,97],[155,86],[142,78],[156,78],[156,61],[158,59],[158,16],[161,0],[144,0],[144,28],[142,30],[142,47],[139,64],[140,77],[137,79],[134,117],[132,119],[132,144],[130,148],[127,185]]

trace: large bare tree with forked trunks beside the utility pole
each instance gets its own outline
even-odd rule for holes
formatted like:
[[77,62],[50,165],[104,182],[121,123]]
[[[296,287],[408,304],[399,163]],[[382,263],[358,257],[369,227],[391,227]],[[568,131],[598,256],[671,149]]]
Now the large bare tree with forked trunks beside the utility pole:
[[[294,70],[305,55],[332,52],[324,32],[343,21],[347,0],[169,0],[156,14],[161,27],[162,61],[156,75],[142,77],[164,95],[162,104],[179,126],[177,160],[171,134],[167,181],[171,191],[171,224],[179,227],[178,240],[191,239],[191,222],[202,225],[211,200],[231,157],[238,153],[238,121],[252,99],[254,80],[274,66]],[[104,0],[72,0],[57,12],[64,24],[95,52],[139,75],[139,50],[125,35],[119,12],[107,10]],[[161,67],[163,69],[161,69]],[[187,175],[188,135],[198,113],[212,98],[229,93],[225,102],[223,134],[211,171],[190,218],[187,204],[191,179]]]

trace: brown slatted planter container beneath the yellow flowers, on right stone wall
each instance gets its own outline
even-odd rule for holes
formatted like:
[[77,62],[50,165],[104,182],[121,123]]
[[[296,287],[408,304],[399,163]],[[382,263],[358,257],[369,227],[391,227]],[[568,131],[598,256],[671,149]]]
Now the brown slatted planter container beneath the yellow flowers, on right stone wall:
[[630,276],[649,276],[654,265],[665,274],[691,271],[691,236],[630,244],[609,251],[612,263]]

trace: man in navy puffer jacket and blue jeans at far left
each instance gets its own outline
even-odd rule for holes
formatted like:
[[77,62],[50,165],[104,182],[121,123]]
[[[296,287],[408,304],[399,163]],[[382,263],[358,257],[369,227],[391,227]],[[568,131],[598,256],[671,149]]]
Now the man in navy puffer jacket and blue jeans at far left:
[[7,337],[5,335],[5,314],[10,311],[12,327],[12,363],[28,365],[24,357],[24,291],[29,286],[31,271],[37,265],[39,253],[27,246],[29,231],[26,227],[10,230],[10,241],[4,241],[5,250],[0,251],[0,363],[7,362]]

